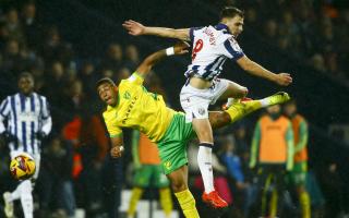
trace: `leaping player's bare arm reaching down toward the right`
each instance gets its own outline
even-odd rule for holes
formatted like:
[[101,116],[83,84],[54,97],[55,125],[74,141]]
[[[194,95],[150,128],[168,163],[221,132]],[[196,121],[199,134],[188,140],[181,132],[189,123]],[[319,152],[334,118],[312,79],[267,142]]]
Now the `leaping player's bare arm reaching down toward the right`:
[[292,77],[289,73],[273,73],[258,63],[250,60],[246,56],[237,60],[237,63],[246,72],[252,75],[261,76],[269,80],[278,85],[288,86],[292,83]]

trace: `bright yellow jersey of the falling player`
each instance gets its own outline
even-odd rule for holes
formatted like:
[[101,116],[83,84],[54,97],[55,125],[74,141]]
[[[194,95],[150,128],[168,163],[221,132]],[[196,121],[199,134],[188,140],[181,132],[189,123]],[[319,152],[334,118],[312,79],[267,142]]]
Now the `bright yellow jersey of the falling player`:
[[163,137],[176,113],[167,108],[163,96],[146,90],[144,78],[134,72],[119,84],[118,104],[103,113],[110,137],[123,128],[136,129],[153,142]]

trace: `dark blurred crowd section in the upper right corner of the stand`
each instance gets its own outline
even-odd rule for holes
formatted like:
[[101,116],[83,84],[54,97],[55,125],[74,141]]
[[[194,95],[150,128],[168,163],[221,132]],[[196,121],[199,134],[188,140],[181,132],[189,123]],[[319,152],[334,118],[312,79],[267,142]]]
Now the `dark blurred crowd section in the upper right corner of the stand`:
[[267,44],[348,84],[349,9],[334,2],[246,1],[245,25]]

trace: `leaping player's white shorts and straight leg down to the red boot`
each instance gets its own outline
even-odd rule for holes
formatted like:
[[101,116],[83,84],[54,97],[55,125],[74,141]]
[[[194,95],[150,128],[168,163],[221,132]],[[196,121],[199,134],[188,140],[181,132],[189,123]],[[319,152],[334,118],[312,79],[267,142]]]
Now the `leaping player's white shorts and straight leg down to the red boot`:
[[203,178],[205,191],[203,201],[215,208],[227,207],[228,204],[221,199],[214,187],[214,174],[212,168],[212,149],[214,138],[212,126],[208,120],[208,105],[218,98],[226,87],[213,86],[209,89],[197,89],[190,85],[183,86],[180,95],[181,106],[185,111],[188,122],[198,137],[197,164]]

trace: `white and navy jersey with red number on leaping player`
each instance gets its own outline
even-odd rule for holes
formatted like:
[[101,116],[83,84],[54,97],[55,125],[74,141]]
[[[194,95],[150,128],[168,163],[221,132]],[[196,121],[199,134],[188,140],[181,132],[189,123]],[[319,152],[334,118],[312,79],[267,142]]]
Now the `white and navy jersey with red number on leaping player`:
[[238,60],[244,56],[225,24],[190,28],[190,38],[193,44],[192,64],[188,66],[186,77],[195,75],[210,81],[220,74],[228,58]]

